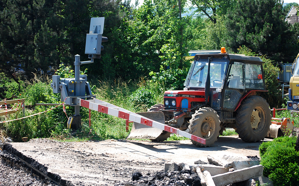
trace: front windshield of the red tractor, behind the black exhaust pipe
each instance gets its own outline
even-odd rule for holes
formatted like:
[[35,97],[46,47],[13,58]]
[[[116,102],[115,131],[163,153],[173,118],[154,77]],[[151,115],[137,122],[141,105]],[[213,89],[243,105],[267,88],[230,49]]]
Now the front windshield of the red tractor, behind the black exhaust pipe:
[[[218,60],[218,61],[217,61]],[[225,70],[228,64],[227,60],[212,60],[210,64],[211,88],[222,87],[225,77]],[[194,66],[194,68],[193,68]],[[208,60],[196,60],[191,65],[184,85],[186,87],[205,87],[208,74]]]

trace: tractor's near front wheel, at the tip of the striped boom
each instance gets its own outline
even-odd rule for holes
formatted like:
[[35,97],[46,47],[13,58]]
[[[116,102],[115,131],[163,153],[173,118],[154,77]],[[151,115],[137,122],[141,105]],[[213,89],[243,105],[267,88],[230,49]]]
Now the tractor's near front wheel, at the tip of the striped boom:
[[211,108],[203,107],[196,110],[190,119],[189,133],[206,140],[206,144],[191,140],[197,147],[209,147],[217,141],[220,131],[220,121],[217,112]]

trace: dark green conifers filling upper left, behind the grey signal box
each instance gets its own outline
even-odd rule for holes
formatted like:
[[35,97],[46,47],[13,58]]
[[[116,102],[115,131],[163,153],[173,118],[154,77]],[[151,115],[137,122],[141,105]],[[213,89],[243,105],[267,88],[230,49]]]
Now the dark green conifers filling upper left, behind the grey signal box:
[[123,20],[120,4],[119,0],[1,1],[1,74],[18,82],[17,76],[30,79],[33,73],[53,73],[60,63],[72,64],[75,54],[87,60],[90,18],[105,17],[105,32],[114,32]]

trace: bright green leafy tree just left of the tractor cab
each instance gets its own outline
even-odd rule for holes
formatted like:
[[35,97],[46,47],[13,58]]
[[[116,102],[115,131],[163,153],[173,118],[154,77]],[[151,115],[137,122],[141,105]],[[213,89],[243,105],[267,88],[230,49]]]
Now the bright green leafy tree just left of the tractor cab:
[[[164,36],[164,44],[159,49],[162,62],[160,71],[152,71],[153,81],[163,81],[168,88],[182,88],[190,63],[184,59],[188,55],[186,48],[188,32],[187,25],[191,18],[180,18],[177,1],[154,1],[159,23],[158,29]],[[184,12],[186,1],[181,2],[181,11]],[[170,7],[170,8],[169,8]]]

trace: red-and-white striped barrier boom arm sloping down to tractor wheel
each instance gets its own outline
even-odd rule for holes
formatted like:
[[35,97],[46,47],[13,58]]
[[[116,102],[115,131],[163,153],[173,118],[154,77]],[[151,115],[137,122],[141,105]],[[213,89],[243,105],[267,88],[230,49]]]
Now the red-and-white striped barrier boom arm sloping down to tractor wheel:
[[81,107],[88,108],[90,110],[95,110],[98,112],[102,112],[105,114],[109,114],[112,116],[116,116],[118,118],[126,119],[129,121],[134,121],[136,123],[144,124],[147,126],[155,127],[161,130],[165,130],[167,132],[171,132],[177,135],[181,135],[187,137],[191,140],[197,141],[202,144],[206,144],[206,140],[195,135],[189,134],[172,126],[168,126],[157,121],[151,120],[134,112],[130,112],[129,110],[123,109],[121,107],[115,106],[113,104],[107,103],[105,101],[101,101],[99,99],[91,99],[84,100],[80,99],[79,105]]

